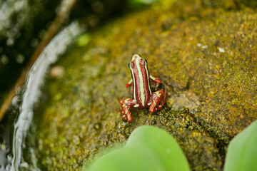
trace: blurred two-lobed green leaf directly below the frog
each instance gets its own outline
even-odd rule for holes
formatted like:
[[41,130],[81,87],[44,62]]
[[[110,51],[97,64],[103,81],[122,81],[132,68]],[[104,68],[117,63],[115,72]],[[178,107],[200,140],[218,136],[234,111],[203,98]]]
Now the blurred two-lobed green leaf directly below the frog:
[[131,133],[125,147],[99,157],[89,170],[190,170],[176,140],[166,131],[141,126]]

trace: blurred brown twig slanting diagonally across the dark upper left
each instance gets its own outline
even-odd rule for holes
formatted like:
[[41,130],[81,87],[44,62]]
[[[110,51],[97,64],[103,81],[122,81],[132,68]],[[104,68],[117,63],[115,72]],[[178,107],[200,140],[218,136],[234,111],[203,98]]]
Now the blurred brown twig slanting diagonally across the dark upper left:
[[18,80],[14,84],[14,87],[11,88],[11,91],[9,92],[8,97],[6,98],[6,100],[4,100],[4,103],[1,105],[0,121],[2,120],[2,118],[4,118],[6,110],[11,104],[12,98],[14,98],[14,95],[16,95],[16,88],[19,88],[19,86],[21,86],[26,81],[26,76],[31,70],[34,63],[36,62],[36,59],[39,58],[41,52],[44,50],[46,45],[51,41],[52,38],[54,38],[57,31],[59,31],[59,28],[61,28],[61,25],[64,23],[65,19],[69,16],[71,8],[72,6],[74,6],[75,3],[76,3],[76,0],[62,1],[62,4],[57,16],[55,17],[54,21],[51,23],[51,26],[49,27],[48,31],[44,35],[44,38],[42,39],[41,43],[36,48],[36,51],[34,52],[33,56],[31,56],[29,63],[26,65],[26,68],[24,68],[23,72],[21,73],[21,76],[19,76]]

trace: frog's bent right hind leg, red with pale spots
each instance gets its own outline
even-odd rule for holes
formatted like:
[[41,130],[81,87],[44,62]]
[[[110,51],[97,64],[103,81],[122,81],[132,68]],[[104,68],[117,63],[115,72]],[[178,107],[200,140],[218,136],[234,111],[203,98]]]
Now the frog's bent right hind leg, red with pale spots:
[[158,90],[153,92],[148,103],[148,105],[150,105],[149,111],[151,113],[154,113],[158,110],[161,110],[161,108],[163,108],[165,101],[166,101],[166,88],[164,89],[164,93],[163,93],[163,90]]

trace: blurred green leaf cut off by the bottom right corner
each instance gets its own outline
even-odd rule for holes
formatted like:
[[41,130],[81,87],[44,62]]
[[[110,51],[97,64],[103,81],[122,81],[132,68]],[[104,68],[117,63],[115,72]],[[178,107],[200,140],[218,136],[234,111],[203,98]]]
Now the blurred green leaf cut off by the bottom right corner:
[[257,170],[257,120],[229,143],[224,170]]

